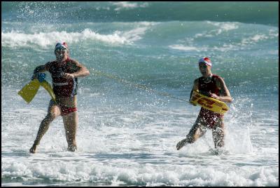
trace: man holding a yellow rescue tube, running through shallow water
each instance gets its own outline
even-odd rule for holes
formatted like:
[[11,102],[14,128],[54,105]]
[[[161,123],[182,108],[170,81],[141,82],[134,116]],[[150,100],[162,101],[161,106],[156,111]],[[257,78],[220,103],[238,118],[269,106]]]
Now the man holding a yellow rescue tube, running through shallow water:
[[[211,73],[211,60],[209,58],[201,58],[198,64],[202,76],[195,79],[193,89],[190,92],[190,98],[193,95],[193,90],[200,90],[201,93],[207,93],[209,97],[216,100],[232,102],[232,97],[230,96],[230,91],[227,86],[225,86],[225,81],[223,81],[220,76]],[[190,129],[186,138],[176,145],[177,150],[181,149],[186,144],[195,142],[199,137],[202,137],[202,135],[206,133],[207,128],[212,129],[215,148],[224,147],[225,133],[223,114],[218,114],[202,107],[195,124]]]

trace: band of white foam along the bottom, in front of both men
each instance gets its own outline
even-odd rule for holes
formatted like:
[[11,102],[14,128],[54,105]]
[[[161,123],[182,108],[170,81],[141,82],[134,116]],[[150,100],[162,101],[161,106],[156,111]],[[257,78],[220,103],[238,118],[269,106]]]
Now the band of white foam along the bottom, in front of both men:
[[[216,167],[207,166],[165,166],[146,163],[127,163],[118,161],[114,165],[106,165],[97,161],[87,161],[87,156],[79,157],[79,161],[59,161],[51,156],[52,161],[27,161],[21,163],[9,160],[2,163],[2,176],[25,177],[25,180],[48,179],[67,182],[102,182],[109,181],[128,185],[177,185],[177,186],[277,186],[277,168],[225,168],[222,164]],[[90,157],[90,155],[88,155]],[[94,156],[92,156],[94,158]],[[74,159],[74,157],[71,157]],[[70,158],[70,159],[71,159]],[[72,160],[73,160],[72,159]],[[221,159],[216,159],[220,161]]]

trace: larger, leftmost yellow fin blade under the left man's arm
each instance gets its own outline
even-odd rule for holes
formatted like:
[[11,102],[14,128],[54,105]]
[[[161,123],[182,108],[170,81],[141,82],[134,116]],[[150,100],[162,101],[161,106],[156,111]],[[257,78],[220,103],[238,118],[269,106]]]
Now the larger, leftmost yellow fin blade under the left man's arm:
[[31,102],[31,100],[33,100],[34,96],[38,92],[39,87],[40,82],[38,79],[31,80],[18,92],[18,95],[20,95],[28,104]]

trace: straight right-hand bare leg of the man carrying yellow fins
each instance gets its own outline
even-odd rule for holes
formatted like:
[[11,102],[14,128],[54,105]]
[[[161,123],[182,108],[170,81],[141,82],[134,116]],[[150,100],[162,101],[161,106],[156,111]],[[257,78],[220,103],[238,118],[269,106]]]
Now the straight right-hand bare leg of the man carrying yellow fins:
[[78,127],[78,112],[72,112],[62,118],[65,128],[66,141],[68,143],[67,150],[69,152],[75,152],[77,150],[76,133]]

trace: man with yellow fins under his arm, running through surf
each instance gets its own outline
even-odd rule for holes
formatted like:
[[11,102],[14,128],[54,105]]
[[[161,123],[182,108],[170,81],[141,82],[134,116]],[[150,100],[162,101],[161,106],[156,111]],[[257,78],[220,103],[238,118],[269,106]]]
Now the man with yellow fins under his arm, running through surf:
[[39,72],[50,72],[52,76],[52,89],[55,93],[55,101],[50,100],[48,114],[41,122],[30,153],[35,153],[41,138],[47,132],[50,123],[57,117],[62,116],[68,151],[77,149],[76,131],[78,126],[77,112],[77,82],[78,77],[90,74],[88,69],[78,61],[69,58],[69,49],[65,42],[55,45],[56,60],[47,62],[34,69],[33,78],[37,78]]

